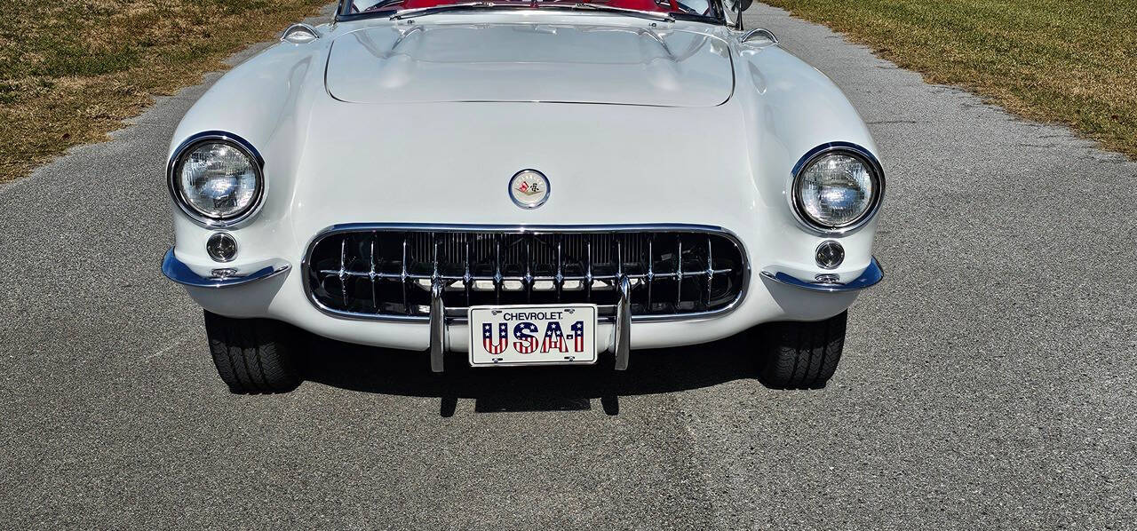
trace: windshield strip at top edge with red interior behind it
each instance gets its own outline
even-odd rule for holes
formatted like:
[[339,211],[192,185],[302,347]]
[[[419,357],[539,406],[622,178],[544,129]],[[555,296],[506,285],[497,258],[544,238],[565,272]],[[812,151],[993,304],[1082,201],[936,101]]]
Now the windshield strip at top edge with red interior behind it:
[[[340,15],[343,17],[367,16],[380,14],[389,15],[405,9],[424,9],[455,3],[467,3],[470,0],[345,0]],[[658,13],[679,17],[714,18],[721,16],[716,13],[714,0],[490,0],[495,6],[508,8],[541,6],[549,7],[572,7],[578,3],[587,3],[596,7],[609,7],[617,9],[634,9],[638,11]]]

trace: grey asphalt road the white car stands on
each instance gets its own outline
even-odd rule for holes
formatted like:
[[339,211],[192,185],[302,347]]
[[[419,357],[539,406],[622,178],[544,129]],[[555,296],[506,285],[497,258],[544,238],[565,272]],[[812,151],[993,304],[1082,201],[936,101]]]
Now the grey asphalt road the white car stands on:
[[299,390],[229,395],[158,272],[196,86],[0,191],[0,528],[1135,526],[1137,164],[748,20],[846,91],[889,176],[887,279],[827,389],[763,388],[741,339],[445,380],[316,342]]

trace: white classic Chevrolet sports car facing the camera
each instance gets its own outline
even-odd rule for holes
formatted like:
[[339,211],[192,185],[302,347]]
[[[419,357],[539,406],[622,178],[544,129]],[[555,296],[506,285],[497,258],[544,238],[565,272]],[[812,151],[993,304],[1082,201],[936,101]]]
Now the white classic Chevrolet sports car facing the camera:
[[747,332],[767,385],[824,385],[881,279],[885,176],[841,91],[745,7],[343,0],[290,27],[169,150],[163,272],[222,380],[294,388],[301,332],[437,372],[624,370]]

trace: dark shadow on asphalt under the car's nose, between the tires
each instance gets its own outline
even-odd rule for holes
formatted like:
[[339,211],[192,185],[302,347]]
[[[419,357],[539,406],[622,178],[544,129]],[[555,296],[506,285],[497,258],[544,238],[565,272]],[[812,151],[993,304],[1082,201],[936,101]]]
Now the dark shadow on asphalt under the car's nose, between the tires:
[[[612,356],[596,365],[473,368],[466,355],[448,354],[446,372],[432,373],[425,352],[391,350],[312,338],[305,380],[360,392],[438,397],[440,414],[457,399],[474,399],[479,413],[582,410],[599,399],[605,413],[620,412],[621,396],[653,395],[755,379],[757,348],[739,334],[712,343],[633,350],[628,371]],[[755,380],[755,384],[760,384]]]

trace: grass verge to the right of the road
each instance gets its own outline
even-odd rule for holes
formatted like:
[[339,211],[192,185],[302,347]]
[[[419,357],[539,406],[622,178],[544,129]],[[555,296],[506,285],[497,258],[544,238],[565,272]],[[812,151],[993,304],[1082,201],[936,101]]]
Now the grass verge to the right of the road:
[[1137,0],[762,0],[1137,157]]

